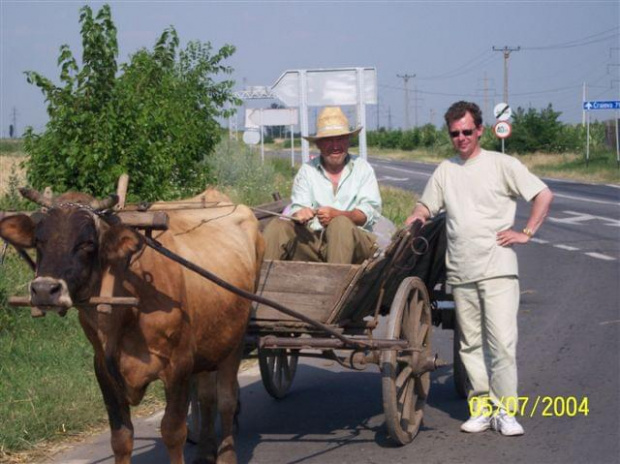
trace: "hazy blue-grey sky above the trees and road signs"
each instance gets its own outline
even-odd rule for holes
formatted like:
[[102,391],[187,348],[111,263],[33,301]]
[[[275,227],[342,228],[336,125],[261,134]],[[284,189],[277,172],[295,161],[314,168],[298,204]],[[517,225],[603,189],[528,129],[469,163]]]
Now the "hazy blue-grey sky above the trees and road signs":
[[[103,2],[0,0],[0,133],[44,130],[43,94],[26,82],[37,71],[58,82],[59,48],[81,58],[79,9]],[[227,63],[235,90],[271,86],[286,70],[375,67],[378,104],[368,129],[443,124],[457,100],[478,103],[486,123],[503,101],[504,53],[511,107],[552,104],[567,123],[582,120],[586,100],[620,100],[620,2],[613,1],[109,1],[119,63],[152,49],[172,25],[190,40],[236,47]],[[248,106],[268,107],[274,101]],[[354,117],[353,108],[346,108]],[[310,113],[314,120],[317,110]],[[596,119],[611,111],[592,112]],[[243,127],[239,117],[239,127]],[[353,123],[352,123],[353,125]],[[311,126],[312,127],[312,126]]]

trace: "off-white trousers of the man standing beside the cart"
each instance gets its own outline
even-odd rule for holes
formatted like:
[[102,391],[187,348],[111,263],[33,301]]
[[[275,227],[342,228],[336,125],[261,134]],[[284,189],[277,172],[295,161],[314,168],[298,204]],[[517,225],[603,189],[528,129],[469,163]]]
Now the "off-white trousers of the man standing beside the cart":
[[469,399],[489,396],[500,407],[515,404],[519,279],[454,285],[452,292],[461,329],[461,359],[472,386]]

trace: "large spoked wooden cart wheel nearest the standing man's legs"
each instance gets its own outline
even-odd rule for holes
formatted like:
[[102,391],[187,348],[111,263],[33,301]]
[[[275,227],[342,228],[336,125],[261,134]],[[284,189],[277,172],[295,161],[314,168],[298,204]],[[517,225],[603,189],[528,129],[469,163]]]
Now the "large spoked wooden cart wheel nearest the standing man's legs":
[[392,440],[410,443],[422,424],[430,372],[415,375],[431,356],[431,305],[424,282],[407,277],[392,301],[387,338],[407,340],[421,351],[386,350],[381,354],[383,409]]

